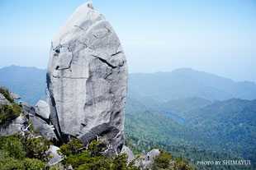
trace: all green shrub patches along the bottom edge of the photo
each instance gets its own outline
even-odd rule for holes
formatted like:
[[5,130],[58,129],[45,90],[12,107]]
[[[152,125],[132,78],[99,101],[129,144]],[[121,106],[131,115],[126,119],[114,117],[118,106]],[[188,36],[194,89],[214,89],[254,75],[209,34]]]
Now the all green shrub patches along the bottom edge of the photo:
[[[26,133],[25,136],[0,136],[0,169],[57,170],[59,166],[46,166],[46,162],[50,159],[50,152],[48,151],[50,145],[49,140],[33,138],[29,133]],[[134,166],[135,160],[128,161],[126,154],[107,156],[107,149],[107,138],[104,137],[99,140],[92,140],[88,145],[83,145],[78,139],[73,138],[69,143],[61,145],[58,152],[63,157],[61,164],[64,168],[69,168],[71,165],[76,170],[140,169],[140,167]],[[172,159],[172,154],[163,149],[160,150],[161,154],[154,159],[153,169],[191,169],[187,166],[187,160],[181,159],[183,161],[178,162],[176,159]]]

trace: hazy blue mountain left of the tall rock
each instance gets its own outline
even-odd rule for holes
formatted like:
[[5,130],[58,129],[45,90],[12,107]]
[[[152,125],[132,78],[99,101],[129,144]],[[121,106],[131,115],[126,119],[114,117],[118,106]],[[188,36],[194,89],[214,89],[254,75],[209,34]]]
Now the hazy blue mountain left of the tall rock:
[[45,100],[46,70],[36,67],[3,67],[0,69],[0,86],[6,86],[12,93],[19,94],[23,101],[35,106]]

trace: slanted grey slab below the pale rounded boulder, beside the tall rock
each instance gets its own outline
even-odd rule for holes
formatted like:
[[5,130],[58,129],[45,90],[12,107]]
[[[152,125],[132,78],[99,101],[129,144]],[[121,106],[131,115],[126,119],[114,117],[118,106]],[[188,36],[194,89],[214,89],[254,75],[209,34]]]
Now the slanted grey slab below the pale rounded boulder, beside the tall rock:
[[43,119],[40,117],[36,117],[36,115],[29,114],[28,119],[32,122],[33,126],[35,127],[36,131],[40,133],[40,135],[47,140],[52,141],[54,144],[58,142],[58,138],[55,134],[53,128],[47,124]]

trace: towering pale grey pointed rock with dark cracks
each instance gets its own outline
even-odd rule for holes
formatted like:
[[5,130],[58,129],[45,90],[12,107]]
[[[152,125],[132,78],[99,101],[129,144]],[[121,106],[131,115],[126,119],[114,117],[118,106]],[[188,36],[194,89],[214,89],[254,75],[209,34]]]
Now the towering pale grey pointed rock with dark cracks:
[[127,66],[121,43],[92,2],[78,7],[52,41],[47,69],[50,121],[62,141],[106,135],[124,143]]

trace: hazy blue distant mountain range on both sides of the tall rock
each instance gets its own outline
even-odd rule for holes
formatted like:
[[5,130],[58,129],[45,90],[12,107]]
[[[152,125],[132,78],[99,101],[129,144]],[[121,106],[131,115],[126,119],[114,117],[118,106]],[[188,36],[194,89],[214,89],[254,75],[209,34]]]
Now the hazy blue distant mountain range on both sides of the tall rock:
[[[36,67],[3,67],[0,85],[31,105],[45,99],[45,69]],[[201,98],[208,100],[256,99],[253,82],[235,82],[191,68],[152,74],[134,73],[128,79],[128,97],[145,103],[168,102],[173,99]]]

